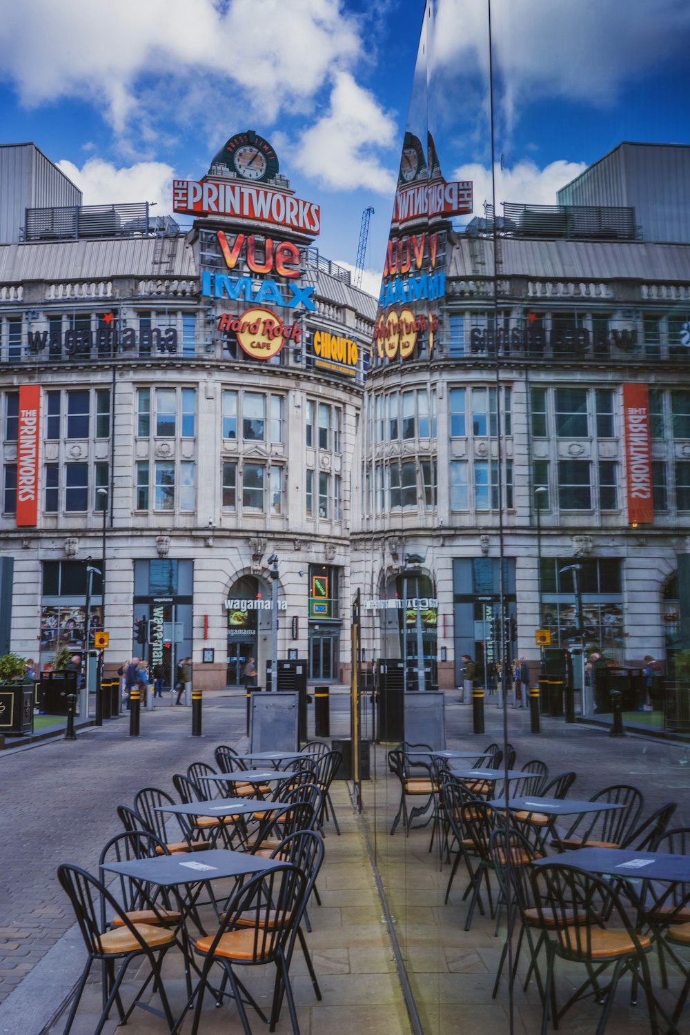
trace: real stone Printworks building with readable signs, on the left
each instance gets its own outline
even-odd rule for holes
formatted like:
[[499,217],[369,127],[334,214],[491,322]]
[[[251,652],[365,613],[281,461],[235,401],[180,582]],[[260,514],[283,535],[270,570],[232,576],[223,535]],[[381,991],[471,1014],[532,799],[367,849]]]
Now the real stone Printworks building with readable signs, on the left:
[[252,131],[200,181],[175,182],[187,232],[147,204],[82,206],[33,145],[0,148],[10,167],[5,649],[40,664],[58,647],[81,653],[88,615],[91,633],[110,633],[113,669],[144,651],[174,681],[191,655],[213,689],[253,656],[263,685],[273,569],[279,656],[338,679],[376,301],[320,255],[319,206],[294,197]]

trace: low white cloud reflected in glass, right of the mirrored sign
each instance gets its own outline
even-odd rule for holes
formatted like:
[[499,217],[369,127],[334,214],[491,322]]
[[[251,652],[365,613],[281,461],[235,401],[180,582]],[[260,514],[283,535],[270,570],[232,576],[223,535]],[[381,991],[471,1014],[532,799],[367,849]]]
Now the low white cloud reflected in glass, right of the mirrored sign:
[[[556,205],[556,191],[579,176],[587,165],[583,161],[551,161],[543,169],[526,159],[512,168],[496,166],[496,202],[498,214],[501,203],[512,201],[531,205]],[[491,171],[477,162],[460,166],[451,179],[472,180],[474,214],[484,215],[484,202],[491,203]]]

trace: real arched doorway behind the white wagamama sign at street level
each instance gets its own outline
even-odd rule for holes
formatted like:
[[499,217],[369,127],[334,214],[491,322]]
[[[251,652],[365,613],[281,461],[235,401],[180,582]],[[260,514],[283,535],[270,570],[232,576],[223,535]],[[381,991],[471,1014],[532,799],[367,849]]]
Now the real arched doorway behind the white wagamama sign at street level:
[[258,685],[263,686],[262,672],[268,657],[271,631],[270,589],[256,575],[242,575],[231,587],[228,610],[229,686],[239,686],[242,669],[250,657],[256,659]]

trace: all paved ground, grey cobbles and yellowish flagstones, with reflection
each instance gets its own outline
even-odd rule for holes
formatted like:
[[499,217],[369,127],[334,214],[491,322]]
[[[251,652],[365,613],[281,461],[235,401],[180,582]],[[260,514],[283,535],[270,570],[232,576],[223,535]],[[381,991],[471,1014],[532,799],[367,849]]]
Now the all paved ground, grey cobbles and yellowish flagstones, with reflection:
[[[479,737],[470,733],[471,707],[458,706],[453,699],[454,694],[450,694],[447,708],[449,745],[484,746],[489,740],[501,739],[502,716],[490,699],[486,732]],[[332,697],[332,735],[347,733],[347,707],[344,697]],[[126,719],[120,719],[85,732],[77,742],[44,743],[0,755],[0,772],[4,776],[0,1001],[19,986],[19,992],[7,999],[4,1012],[0,1005],[0,1032],[17,1030],[22,1035],[38,1035],[44,1029],[46,1014],[50,1016],[59,1007],[69,987],[69,973],[61,974],[61,966],[64,969],[69,957],[71,980],[79,972],[82,950],[77,943],[70,949],[69,939],[63,938],[72,918],[55,881],[58,863],[71,860],[93,868],[101,845],[118,830],[115,806],[119,802],[130,803],[134,792],[146,785],[169,787],[174,771],[184,771],[199,758],[210,760],[217,743],[241,743],[244,700],[209,699],[204,709],[205,736],[201,739],[188,736],[189,722],[188,710],[163,707],[142,716],[139,740],[127,737]],[[610,739],[605,732],[568,727],[561,719],[548,718],[543,720],[544,732],[535,737],[529,732],[528,713],[519,711],[509,711],[508,726],[509,739],[517,747],[518,765],[536,757],[543,759],[553,774],[564,769],[577,770],[575,790],[581,797],[609,782],[635,783],[643,790],[648,809],[672,799],[680,803],[674,822],[690,823],[688,748],[633,737]],[[463,1031],[470,1033],[475,1028],[488,1033],[510,1031],[507,990],[498,1004],[487,990],[494,956],[498,958],[500,951],[492,925],[475,921],[469,937],[461,929],[466,907],[459,904],[460,896],[454,895],[453,904],[443,907],[446,876],[438,874],[432,857],[426,853],[427,830],[413,831],[409,839],[399,831],[394,837],[388,835],[398,788],[386,775],[385,748],[376,749],[373,768],[378,778],[366,786],[365,822],[395,915],[424,1031],[445,1035],[454,1031],[460,1021]],[[318,922],[309,936],[327,993],[323,1004],[312,1006],[307,983],[298,977],[302,1030],[312,1035],[325,1032],[347,1010],[349,1023],[362,1031],[402,1035],[408,1028],[393,976],[391,950],[359,821],[348,808],[344,785],[340,785],[338,803],[344,820],[343,837],[329,834],[327,838],[324,907],[314,917]],[[362,895],[364,907],[360,906]],[[60,966],[52,966],[54,960]],[[54,986],[51,974],[55,975]],[[8,1029],[5,1022],[14,1016],[11,1010],[23,989],[26,1001],[35,1003],[41,996],[49,1000],[43,1004],[43,1021],[33,1022],[33,1027],[27,1022],[28,1027]],[[530,995],[527,999],[521,994],[516,997],[515,1024],[519,1018],[522,1026],[515,1027],[517,1032],[535,1030],[536,1007]],[[470,1005],[472,1017],[468,1013]],[[209,1035],[214,1033],[213,1017],[224,1014],[211,1010],[203,1030]],[[639,1025],[636,1018],[642,1015],[643,1011],[637,1011],[632,1022],[621,1017],[625,1035],[644,1030],[644,1026],[635,1027]],[[74,1029],[76,1035],[89,1031],[88,1023],[84,1024],[86,1027]],[[156,1024],[142,1015],[136,1023],[132,1018],[129,1028],[132,1033],[162,1031]],[[564,1030],[575,1035],[590,1029],[586,1025],[566,1026]],[[61,1028],[57,1026],[55,1031]],[[608,1031],[609,1035],[619,1035],[624,1028],[611,1025]]]

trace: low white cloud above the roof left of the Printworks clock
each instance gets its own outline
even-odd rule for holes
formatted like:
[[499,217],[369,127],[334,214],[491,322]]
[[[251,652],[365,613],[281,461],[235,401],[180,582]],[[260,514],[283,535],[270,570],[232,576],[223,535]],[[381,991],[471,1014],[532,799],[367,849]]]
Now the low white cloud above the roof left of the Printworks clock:
[[157,205],[153,215],[171,210],[174,170],[163,161],[140,161],[122,169],[101,158],[89,158],[81,169],[64,159],[57,165],[83,190],[85,205],[148,201]]

